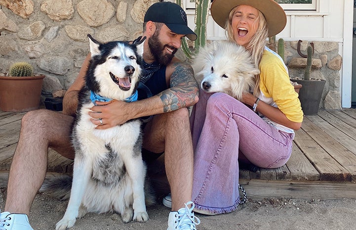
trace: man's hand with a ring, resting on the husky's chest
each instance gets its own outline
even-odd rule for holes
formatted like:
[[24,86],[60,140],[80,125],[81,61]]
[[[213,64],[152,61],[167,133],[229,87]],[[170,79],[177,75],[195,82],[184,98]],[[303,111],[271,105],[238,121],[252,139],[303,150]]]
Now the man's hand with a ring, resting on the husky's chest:
[[119,100],[109,102],[96,101],[97,105],[91,107],[92,112],[89,112],[89,116],[91,117],[90,121],[96,125],[96,129],[99,130],[121,125],[131,119],[124,109],[126,103],[127,102]]

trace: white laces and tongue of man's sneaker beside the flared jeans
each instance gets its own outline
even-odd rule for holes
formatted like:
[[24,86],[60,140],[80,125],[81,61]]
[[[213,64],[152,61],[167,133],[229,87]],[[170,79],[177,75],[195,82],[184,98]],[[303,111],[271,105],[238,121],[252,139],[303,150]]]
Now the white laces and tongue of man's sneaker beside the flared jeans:
[[[191,208],[188,208],[188,205],[192,205]],[[178,213],[175,215],[176,218],[178,218],[177,222],[178,225],[176,226],[176,229],[178,230],[197,230],[196,225],[200,224],[200,220],[198,217],[194,215],[193,209],[195,207],[195,204],[192,201],[189,201],[188,203],[184,204],[185,207],[178,211]]]

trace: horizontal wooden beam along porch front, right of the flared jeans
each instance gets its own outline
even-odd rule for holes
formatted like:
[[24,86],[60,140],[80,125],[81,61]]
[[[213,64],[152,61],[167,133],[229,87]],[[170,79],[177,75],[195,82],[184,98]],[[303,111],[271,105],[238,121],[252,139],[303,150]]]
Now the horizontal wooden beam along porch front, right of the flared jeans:
[[270,197],[301,199],[356,198],[356,183],[351,182],[301,182],[240,180],[247,197],[263,199]]

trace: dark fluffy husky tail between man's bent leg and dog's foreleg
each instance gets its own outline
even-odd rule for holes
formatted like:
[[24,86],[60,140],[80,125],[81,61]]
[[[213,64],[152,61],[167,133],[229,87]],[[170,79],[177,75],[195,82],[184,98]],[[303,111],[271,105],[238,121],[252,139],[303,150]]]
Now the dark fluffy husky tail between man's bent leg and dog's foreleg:
[[44,179],[40,192],[48,193],[54,198],[69,199],[73,177],[66,174],[52,174]]

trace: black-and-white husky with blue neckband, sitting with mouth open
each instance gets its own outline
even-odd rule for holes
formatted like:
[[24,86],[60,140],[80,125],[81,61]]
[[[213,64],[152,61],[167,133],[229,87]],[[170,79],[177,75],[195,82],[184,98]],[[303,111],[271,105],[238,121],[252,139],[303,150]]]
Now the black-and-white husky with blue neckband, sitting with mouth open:
[[136,96],[143,53],[139,44],[101,44],[90,35],[91,60],[85,85],[79,92],[77,117],[73,124],[73,184],[67,211],[56,230],[74,226],[87,212],[117,212],[122,221],[145,222],[144,180],[146,167],[141,157],[140,120],[95,129],[88,112],[96,100],[131,100]]

